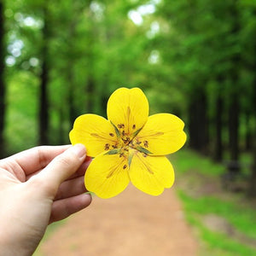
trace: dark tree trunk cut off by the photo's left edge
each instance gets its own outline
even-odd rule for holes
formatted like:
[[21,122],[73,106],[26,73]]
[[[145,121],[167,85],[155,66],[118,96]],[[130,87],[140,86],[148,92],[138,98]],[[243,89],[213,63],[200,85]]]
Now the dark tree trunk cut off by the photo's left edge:
[[4,15],[3,2],[0,2],[0,158],[3,158],[4,152],[4,123],[5,123],[5,81],[4,81]]

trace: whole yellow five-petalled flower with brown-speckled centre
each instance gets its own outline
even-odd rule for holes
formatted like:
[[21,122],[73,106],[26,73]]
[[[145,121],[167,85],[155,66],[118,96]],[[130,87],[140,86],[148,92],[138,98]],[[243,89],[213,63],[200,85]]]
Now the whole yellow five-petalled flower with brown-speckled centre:
[[84,176],[86,189],[102,198],[122,192],[128,183],[160,195],[174,182],[166,154],[183,147],[183,121],[171,113],[148,117],[148,99],[139,88],[115,90],[108,100],[108,120],[84,114],[74,122],[71,143],[83,143],[95,157]]

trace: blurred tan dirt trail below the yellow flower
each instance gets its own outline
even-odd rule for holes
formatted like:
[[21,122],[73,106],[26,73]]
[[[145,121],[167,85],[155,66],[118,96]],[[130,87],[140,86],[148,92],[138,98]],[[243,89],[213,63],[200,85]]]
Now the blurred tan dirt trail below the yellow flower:
[[173,189],[157,197],[131,185],[78,212],[41,245],[44,256],[194,256],[197,243]]

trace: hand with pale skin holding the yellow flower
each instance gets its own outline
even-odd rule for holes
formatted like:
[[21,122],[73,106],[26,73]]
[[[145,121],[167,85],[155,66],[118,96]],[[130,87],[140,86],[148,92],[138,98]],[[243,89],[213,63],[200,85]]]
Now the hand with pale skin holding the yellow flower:
[[0,255],[31,255],[47,225],[90,205],[82,144],[31,148],[0,160]]

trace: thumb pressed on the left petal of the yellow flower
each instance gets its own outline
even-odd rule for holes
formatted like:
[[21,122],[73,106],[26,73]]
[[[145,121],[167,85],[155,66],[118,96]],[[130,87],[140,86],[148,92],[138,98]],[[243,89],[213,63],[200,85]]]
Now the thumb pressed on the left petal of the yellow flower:
[[[44,182],[49,183],[53,189],[58,189],[63,181],[70,177],[82,165],[86,156],[83,144],[76,144],[59,154],[44,168],[40,174]],[[40,176],[41,176],[40,175]]]

